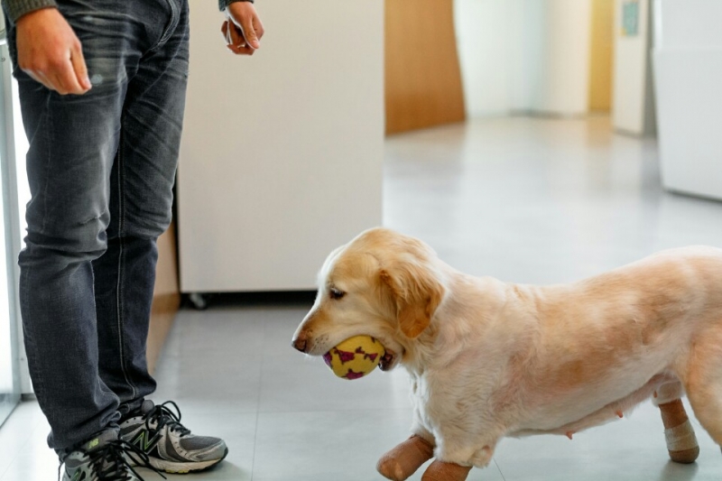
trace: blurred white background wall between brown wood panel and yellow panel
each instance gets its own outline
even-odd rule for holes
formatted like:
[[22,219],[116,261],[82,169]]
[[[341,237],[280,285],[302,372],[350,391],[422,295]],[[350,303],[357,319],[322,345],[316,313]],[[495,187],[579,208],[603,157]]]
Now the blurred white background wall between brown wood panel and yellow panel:
[[591,0],[457,0],[470,117],[588,112]]

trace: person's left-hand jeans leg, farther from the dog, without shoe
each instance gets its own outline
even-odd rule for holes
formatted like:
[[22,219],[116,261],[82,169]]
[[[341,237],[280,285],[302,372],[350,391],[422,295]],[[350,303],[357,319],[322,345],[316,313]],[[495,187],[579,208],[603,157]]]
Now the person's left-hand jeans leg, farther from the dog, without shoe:
[[120,113],[140,53],[125,15],[59,4],[83,44],[94,84],[87,94],[60,96],[30,79],[17,69],[12,27],[9,39],[30,142],[32,199],[19,258],[23,333],[49,444],[67,451],[120,417],[118,397],[98,373],[92,261],[106,250]]

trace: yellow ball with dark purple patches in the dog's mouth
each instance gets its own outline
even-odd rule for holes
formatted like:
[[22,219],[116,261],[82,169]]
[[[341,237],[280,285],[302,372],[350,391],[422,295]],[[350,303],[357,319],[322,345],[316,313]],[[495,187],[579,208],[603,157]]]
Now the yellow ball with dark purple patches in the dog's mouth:
[[375,369],[386,349],[371,336],[355,336],[332,347],[323,355],[333,374],[352,381]]

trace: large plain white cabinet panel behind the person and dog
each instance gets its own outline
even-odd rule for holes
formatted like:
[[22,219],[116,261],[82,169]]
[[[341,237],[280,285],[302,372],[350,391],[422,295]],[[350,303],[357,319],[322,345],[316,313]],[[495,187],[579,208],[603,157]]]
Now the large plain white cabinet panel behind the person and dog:
[[313,289],[331,249],[381,224],[382,0],[256,4],[251,58],[190,2],[178,173],[180,290]]

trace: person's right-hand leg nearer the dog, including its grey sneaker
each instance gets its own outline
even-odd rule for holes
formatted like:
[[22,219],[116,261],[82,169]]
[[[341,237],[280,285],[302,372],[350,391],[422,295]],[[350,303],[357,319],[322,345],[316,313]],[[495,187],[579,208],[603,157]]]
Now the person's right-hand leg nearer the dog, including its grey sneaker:
[[187,0],[162,1],[176,17],[128,85],[111,180],[108,250],[94,266],[101,375],[122,402],[121,437],[143,450],[153,467],[185,473],[217,465],[228,449],[222,439],[191,434],[174,402],[143,400],[155,387],[145,364],[155,241],[171,222],[188,78]]

